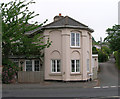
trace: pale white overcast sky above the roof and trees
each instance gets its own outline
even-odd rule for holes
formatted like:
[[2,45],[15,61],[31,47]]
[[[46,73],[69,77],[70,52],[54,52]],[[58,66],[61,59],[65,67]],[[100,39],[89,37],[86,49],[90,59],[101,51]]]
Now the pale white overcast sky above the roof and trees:
[[[8,2],[10,0],[2,0]],[[28,0],[26,0],[28,1]],[[104,39],[106,29],[118,24],[119,0],[34,0],[29,6],[31,11],[40,14],[32,21],[47,23],[53,21],[54,16],[62,14],[69,16],[94,29],[92,36],[96,41]],[[0,1],[1,2],[1,1]]]

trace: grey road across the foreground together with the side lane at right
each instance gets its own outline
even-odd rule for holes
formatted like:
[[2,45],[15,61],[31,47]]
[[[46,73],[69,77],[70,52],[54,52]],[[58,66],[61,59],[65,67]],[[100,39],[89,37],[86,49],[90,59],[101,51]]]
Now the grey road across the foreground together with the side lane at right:
[[[75,86],[75,87],[58,87],[58,88],[50,87],[50,88],[37,88],[37,89],[36,88],[33,89],[16,88],[9,90],[3,89],[3,97],[12,97],[12,98],[13,97],[84,97],[82,99],[120,99],[118,93],[118,88],[120,87],[118,85],[119,73],[114,65],[114,62],[115,60],[111,58],[110,61],[106,63],[100,63],[100,73],[98,75],[100,83],[96,87],[79,88]],[[108,98],[108,97],[112,97],[112,98]],[[73,98],[73,99],[79,99],[79,98]]]

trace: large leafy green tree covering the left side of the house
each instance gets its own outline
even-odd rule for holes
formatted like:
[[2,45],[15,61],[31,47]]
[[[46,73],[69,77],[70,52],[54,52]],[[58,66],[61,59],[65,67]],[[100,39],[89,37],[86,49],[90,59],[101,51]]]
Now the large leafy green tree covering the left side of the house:
[[43,36],[35,32],[35,36],[28,36],[29,33],[40,28],[45,22],[29,24],[30,20],[39,14],[28,9],[32,0],[29,2],[15,0],[1,4],[2,13],[2,50],[3,58],[8,59],[9,55],[24,55],[25,57],[35,56],[41,58],[43,49],[49,47],[51,42],[43,42]]

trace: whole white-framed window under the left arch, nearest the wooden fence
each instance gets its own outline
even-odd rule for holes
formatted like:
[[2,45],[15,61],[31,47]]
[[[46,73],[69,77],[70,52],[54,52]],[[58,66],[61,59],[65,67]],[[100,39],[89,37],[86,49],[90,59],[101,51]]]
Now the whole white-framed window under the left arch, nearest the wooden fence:
[[51,60],[52,73],[60,72],[60,60]]

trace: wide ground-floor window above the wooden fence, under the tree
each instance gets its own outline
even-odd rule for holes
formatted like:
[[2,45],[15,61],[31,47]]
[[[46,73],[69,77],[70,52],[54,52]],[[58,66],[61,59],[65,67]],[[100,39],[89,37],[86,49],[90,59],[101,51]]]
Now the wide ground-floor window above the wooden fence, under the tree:
[[40,71],[40,61],[39,60],[26,60],[25,71]]

